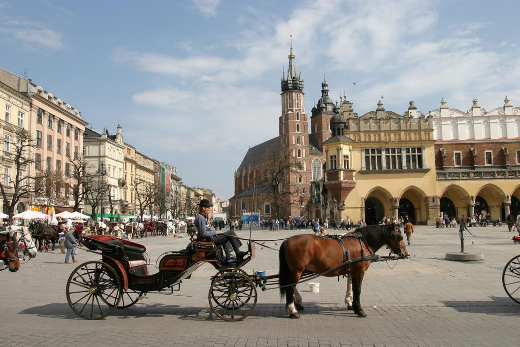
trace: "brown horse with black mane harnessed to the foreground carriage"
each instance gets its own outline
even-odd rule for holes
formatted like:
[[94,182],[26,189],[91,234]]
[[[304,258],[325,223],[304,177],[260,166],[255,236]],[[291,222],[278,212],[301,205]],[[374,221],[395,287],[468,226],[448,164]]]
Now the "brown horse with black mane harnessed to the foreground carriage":
[[[344,247],[340,244],[341,241]],[[347,275],[352,280],[354,303],[348,307],[354,310],[358,317],[367,315],[361,308],[361,282],[371,260],[359,261],[350,265],[344,263],[347,250],[348,259],[368,256],[387,245],[394,253],[403,258],[408,256],[408,250],[403,242],[399,228],[395,224],[371,225],[357,228],[339,240],[321,238],[310,234],[295,235],[283,241],[280,247],[280,295],[286,298],[285,310],[290,318],[300,318],[298,310],[303,310],[302,297],[296,285],[304,272],[323,274],[334,277]],[[330,271],[332,270],[332,271]],[[330,271],[330,272],[328,272]],[[348,294],[348,292],[347,292]],[[348,303],[348,300],[345,300]]]

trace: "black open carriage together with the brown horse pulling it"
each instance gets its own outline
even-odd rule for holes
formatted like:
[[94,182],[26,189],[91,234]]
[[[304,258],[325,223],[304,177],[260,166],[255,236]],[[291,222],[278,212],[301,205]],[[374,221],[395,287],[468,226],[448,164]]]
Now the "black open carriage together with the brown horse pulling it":
[[[302,298],[296,290],[299,282],[317,276],[348,275],[345,303],[359,317],[361,309],[361,282],[371,262],[397,260],[408,257],[400,230],[393,226],[369,226],[356,229],[344,236],[320,237],[296,235],[280,247],[280,273],[260,276],[248,275],[242,267],[255,256],[255,241],[249,240],[249,257],[226,261],[222,246],[201,242],[194,237],[195,228],[188,227],[191,242],[186,249],[161,254],[155,263],[158,272],[150,274],[146,247],[138,243],[108,235],[86,236],[84,245],[89,252],[101,256],[76,267],[67,281],[67,301],[71,309],[86,319],[101,319],[116,308],[124,309],[149,293],[172,292],[180,289],[184,279],[202,264],[210,263],[216,269],[211,276],[209,303],[212,312],[228,321],[242,320],[253,311],[259,287],[262,290],[280,289],[287,298],[286,310],[291,318],[298,318]],[[341,246],[340,246],[341,245]],[[387,245],[395,256],[375,254]],[[348,249],[348,251],[347,251]],[[310,257],[302,254],[323,254]],[[306,271],[313,268],[314,272]],[[354,301],[352,301],[354,299]]]

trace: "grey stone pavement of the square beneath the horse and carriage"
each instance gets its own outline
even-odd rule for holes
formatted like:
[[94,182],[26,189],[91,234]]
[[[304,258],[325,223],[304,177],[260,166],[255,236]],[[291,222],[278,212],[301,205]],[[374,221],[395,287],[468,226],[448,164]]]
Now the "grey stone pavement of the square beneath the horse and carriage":
[[[511,346],[518,345],[520,305],[502,288],[502,269],[520,246],[504,227],[474,227],[477,238],[466,237],[466,251],[483,252],[483,261],[444,260],[459,251],[456,228],[417,226],[411,260],[371,264],[363,281],[361,300],[367,318],[357,318],[343,305],[346,280],[318,278],[320,292],[298,285],[306,310],[300,319],[284,316],[278,290],[258,292],[253,313],[242,322],[215,317],[207,300],[210,265],[200,267],[174,295],[149,294],[128,309],[106,319],[84,320],[70,309],[65,287],[75,265],[64,265],[57,251],[38,253],[17,273],[0,273],[2,346]],[[266,232],[253,238],[289,237],[310,230]],[[334,230],[330,229],[330,233]],[[248,237],[249,230],[239,232]],[[472,241],[474,243],[472,243]],[[165,251],[186,247],[188,238],[149,237],[136,240],[148,249],[150,272]],[[277,247],[280,242],[268,243]],[[380,251],[380,254],[385,252]],[[96,260],[80,251],[80,263]],[[278,273],[278,253],[257,245],[256,258],[245,271]],[[28,335],[22,332],[26,331]]]

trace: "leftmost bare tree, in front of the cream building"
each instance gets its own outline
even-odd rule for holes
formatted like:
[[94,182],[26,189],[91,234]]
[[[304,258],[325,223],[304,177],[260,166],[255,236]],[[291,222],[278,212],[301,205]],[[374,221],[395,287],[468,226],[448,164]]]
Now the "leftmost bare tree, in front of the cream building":
[[0,179],[0,191],[7,208],[5,212],[10,219],[15,214],[16,205],[21,199],[40,192],[41,186],[35,184],[40,176],[25,176],[29,166],[35,163],[35,158],[31,155],[35,144],[29,132],[23,129],[17,130],[14,137],[3,138],[0,143],[4,147],[4,163],[12,163],[10,174]]

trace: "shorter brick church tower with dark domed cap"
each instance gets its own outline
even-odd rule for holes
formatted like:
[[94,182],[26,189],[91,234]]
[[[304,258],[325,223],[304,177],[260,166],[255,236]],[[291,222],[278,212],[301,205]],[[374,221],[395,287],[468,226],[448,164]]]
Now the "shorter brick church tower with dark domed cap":
[[323,143],[331,136],[331,118],[334,115],[334,104],[329,97],[329,84],[323,76],[321,82],[321,98],[318,104],[311,110],[310,133],[316,144],[323,147]]

